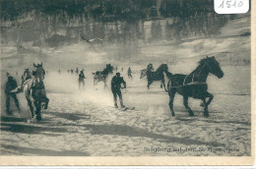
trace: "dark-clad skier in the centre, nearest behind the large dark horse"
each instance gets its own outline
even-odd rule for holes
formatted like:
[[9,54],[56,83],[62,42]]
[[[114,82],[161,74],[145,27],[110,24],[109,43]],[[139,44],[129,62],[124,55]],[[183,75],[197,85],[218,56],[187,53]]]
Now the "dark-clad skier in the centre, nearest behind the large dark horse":
[[114,97],[114,107],[118,108],[117,106],[117,95],[119,96],[119,100],[120,100],[120,105],[121,107],[125,107],[123,105],[123,98],[122,98],[122,92],[121,92],[121,84],[124,85],[124,88],[126,88],[126,83],[123,80],[122,77],[120,77],[120,73],[116,73],[116,76],[114,76],[111,80],[111,90],[113,93],[113,97]]

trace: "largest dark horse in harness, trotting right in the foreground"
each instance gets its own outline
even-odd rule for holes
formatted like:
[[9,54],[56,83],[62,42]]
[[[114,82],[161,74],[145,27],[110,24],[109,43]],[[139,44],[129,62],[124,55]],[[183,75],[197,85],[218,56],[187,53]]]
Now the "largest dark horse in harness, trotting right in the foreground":
[[[215,57],[207,57],[199,62],[199,66],[189,75],[166,73],[169,81],[167,84],[169,95],[169,109],[171,115],[175,116],[173,111],[173,100],[175,93],[183,95],[183,104],[188,110],[190,116],[194,116],[193,111],[188,106],[188,97],[201,99],[204,105],[204,115],[209,116],[208,105],[214,98],[214,95],[207,91],[208,85],[206,84],[209,74],[217,76],[219,79],[224,77],[219,62]],[[208,101],[206,98],[209,97]]]

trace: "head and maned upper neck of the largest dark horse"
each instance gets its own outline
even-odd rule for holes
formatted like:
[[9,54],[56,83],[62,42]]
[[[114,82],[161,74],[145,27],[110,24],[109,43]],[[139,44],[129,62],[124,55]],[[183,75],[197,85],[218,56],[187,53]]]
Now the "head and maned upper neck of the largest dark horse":
[[215,56],[202,59],[200,64],[204,64],[208,67],[209,73],[217,76],[219,79],[224,77],[224,72],[221,69],[220,63],[216,60]]

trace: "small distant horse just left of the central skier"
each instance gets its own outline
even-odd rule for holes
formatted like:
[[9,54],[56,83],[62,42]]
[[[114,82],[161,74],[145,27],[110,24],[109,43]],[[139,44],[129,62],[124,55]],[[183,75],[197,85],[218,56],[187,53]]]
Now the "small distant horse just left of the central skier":
[[93,73],[94,75],[94,87],[98,82],[104,83],[104,88],[106,87],[106,79],[108,74],[113,73],[113,67],[111,64],[106,64],[105,69],[103,71],[96,71],[96,73]]

